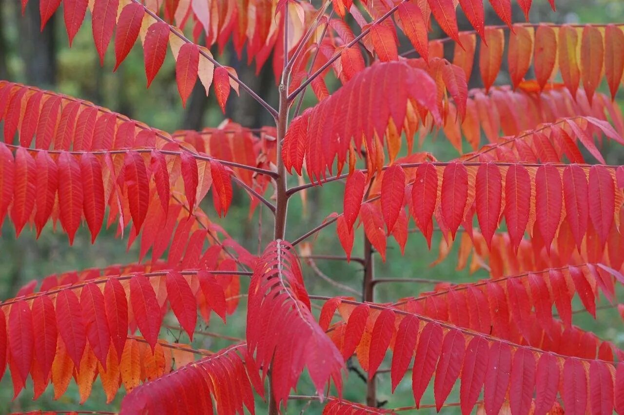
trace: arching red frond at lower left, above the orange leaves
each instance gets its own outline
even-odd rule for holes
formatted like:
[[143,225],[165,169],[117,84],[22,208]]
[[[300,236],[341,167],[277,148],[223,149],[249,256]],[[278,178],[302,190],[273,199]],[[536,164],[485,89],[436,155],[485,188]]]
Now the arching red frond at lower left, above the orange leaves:
[[[5,301],[0,315],[0,368],[3,373],[9,363],[16,395],[29,374],[41,393],[50,380],[54,383],[55,376],[66,373],[60,396],[74,368],[79,375],[81,365],[88,364],[92,382],[96,364],[106,371],[110,364],[120,364],[124,353],[135,356],[138,349],[126,351],[129,329],[140,330],[154,355],[169,307],[190,338],[198,307],[206,318],[213,310],[225,320],[226,313],[233,311],[225,298],[232,280],[231,275],[203,270],[185,275],[155,271],[94,278]],[[236,285],[237,281],[236,277]]]

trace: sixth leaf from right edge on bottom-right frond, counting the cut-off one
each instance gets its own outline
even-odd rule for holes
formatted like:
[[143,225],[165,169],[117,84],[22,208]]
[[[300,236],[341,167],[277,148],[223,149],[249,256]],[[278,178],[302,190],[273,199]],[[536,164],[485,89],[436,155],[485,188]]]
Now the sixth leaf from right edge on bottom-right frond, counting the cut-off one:
[[509,344],[495,342],[490,347],[487,372],[485,373],[485,413],[498,414],[507,394],[511,371],[511,348]]

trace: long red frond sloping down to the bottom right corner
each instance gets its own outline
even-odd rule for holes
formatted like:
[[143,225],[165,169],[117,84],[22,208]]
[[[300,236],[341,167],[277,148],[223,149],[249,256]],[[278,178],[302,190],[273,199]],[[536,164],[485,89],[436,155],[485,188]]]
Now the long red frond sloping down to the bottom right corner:
[[557,392],[570,413],[611,413],[614,406],[617,411],[624,409],[624,396],[614,388],[624,381],[624,364],[618,364],[616,370],[612,355],[608,361],[602,356],[595,359],[595,354],[590,358],[563,356],[442,323],[416,311],[341,298],[326,303],[323,328],[327,328],[336,308],[346,324],[334,325],[329,335],[343,356],[358,353],[369,376],[390,347],[394,389],[414,359],[412,390],[417,406],[435,373],[438,411],[458,378],[464,414],[472,411],[482,389],[487,413],[499,413],[509,396],[512,413],[529,414],[533,410],[545,414],[555,405]]

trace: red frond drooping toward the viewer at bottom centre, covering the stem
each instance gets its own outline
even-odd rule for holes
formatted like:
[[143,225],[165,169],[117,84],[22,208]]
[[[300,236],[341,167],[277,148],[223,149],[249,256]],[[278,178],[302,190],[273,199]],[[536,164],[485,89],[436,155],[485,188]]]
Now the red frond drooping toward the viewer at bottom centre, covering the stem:
[[341,389],[343,360],[310,311],[299,260],[288,242],[266,247],[253,270],[249,288],[246,339],[264,380],[271,367],[275,402],[286,405],[290,389],[308,368],[316,391],[333,379]]

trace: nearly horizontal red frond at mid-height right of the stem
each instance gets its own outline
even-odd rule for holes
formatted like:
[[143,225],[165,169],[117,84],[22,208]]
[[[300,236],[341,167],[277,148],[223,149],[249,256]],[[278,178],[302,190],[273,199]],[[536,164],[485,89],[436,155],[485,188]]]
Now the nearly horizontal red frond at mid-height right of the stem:
[[[567,222],[580,251],[592,225],[601,250],[615,225],[619,227],[624,198],[624,168],[603,165],[525,167],[517,163],[424,162],[394,164],[378,180],[379,197],[364,200],[366,175],[356,170],[346,181],[344,227],[338,227],[343,247],[350,253],[352,228],[359,216],[364,232],[385,258],[386,235],[404,247],[410,215],[431,244],[433,218],[443,233],[455,237],[460,225],[472,230],[477,215],[480,232],[490,247],[492,236],[505,218],[511,247],[517,251],[524,233],[539,233],[547,252]],[[379,202],[377,202],[379,198]],[[366,203],[363,203],[364,202]],[[563,215],[565,213],[565,215]],[[387,232],[384,232],[384,224]],[[397,228],[398,227],[398,228]]]

